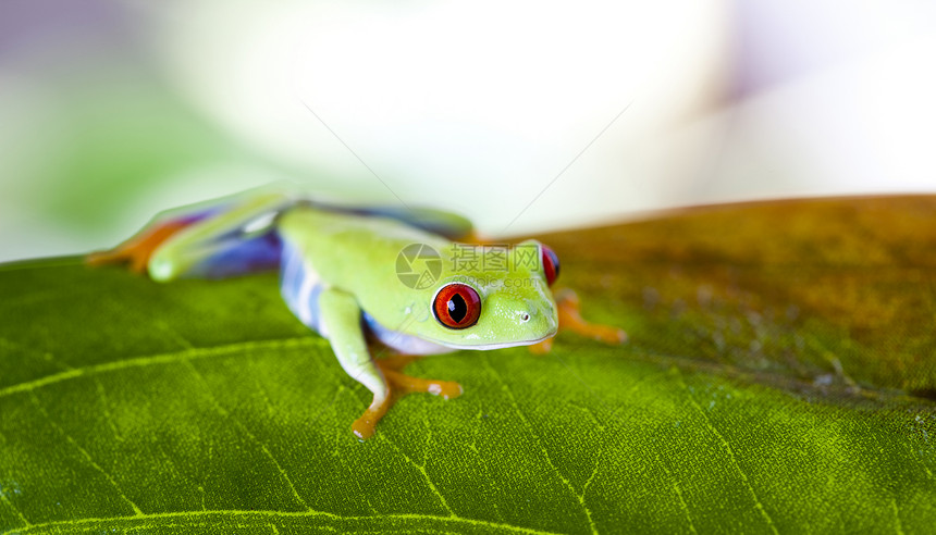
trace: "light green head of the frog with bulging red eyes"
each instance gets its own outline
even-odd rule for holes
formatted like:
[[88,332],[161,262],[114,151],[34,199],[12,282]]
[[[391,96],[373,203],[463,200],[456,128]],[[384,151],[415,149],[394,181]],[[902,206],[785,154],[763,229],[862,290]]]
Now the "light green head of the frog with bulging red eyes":
[[412,326],[417,336],[457,349],[494,349],[556,334],[550,285],[559,264],[550,248],[535,240],[509,248],[453,244],[442,257],[446,269],[422,294],[431,313]]

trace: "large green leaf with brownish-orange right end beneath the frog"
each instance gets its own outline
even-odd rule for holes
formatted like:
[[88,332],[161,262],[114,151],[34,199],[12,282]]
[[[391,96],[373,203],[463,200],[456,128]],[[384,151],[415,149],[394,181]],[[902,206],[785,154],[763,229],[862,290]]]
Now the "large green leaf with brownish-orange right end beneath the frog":
[[0,532],[840,533],[936,523],[936,198],[542,237],[623,346],[409,366],[369,395],[274,276],[0,266]]

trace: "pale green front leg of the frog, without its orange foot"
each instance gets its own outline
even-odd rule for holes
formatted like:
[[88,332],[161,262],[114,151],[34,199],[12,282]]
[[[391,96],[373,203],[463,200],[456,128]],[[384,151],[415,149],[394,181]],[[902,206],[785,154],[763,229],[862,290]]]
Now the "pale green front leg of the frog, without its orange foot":
[[327,288],[319,294],[318,309],[319,332],[331,341],[338,363],[352,378],[373,393],[371,407],[382,406],[390,389],[370,358],[357,300],[346,291]]

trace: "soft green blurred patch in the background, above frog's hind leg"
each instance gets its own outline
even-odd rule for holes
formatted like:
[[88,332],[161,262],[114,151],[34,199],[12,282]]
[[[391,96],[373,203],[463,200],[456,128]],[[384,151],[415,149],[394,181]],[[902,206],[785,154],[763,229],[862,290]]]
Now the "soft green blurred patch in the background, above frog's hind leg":
[[282,169],[226,136],[152,71],[101,65],[63,84],[44,125],[45,161],[20,186],[34,191],[30,210],[49,221],[101,231],[128,202],[201,166]]

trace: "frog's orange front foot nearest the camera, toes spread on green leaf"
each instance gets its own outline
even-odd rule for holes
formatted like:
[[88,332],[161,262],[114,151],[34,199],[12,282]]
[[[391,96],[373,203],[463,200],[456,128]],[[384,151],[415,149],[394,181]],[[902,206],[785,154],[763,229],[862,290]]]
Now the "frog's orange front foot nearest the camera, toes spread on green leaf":
[[377,359],[374,363],[386,380],[389,387],[387,395],[383,399],[374,399],[374,401],[364,411],[364,414],[355,420],[352,425],[352,431],[358,438],[366,440],[373,436],[373,430],[380,419],[386,414],[386,411],[396,403],[399,398],[415,393],[428,393],[433,396],[440,396],[442,399],[457,398],[461,395],[461,385],[454,381],[435,381],[412,377],[406,375],[403,370],[407,364],[418,359],[419,357],[399,354],[387,357],[385,359]]

